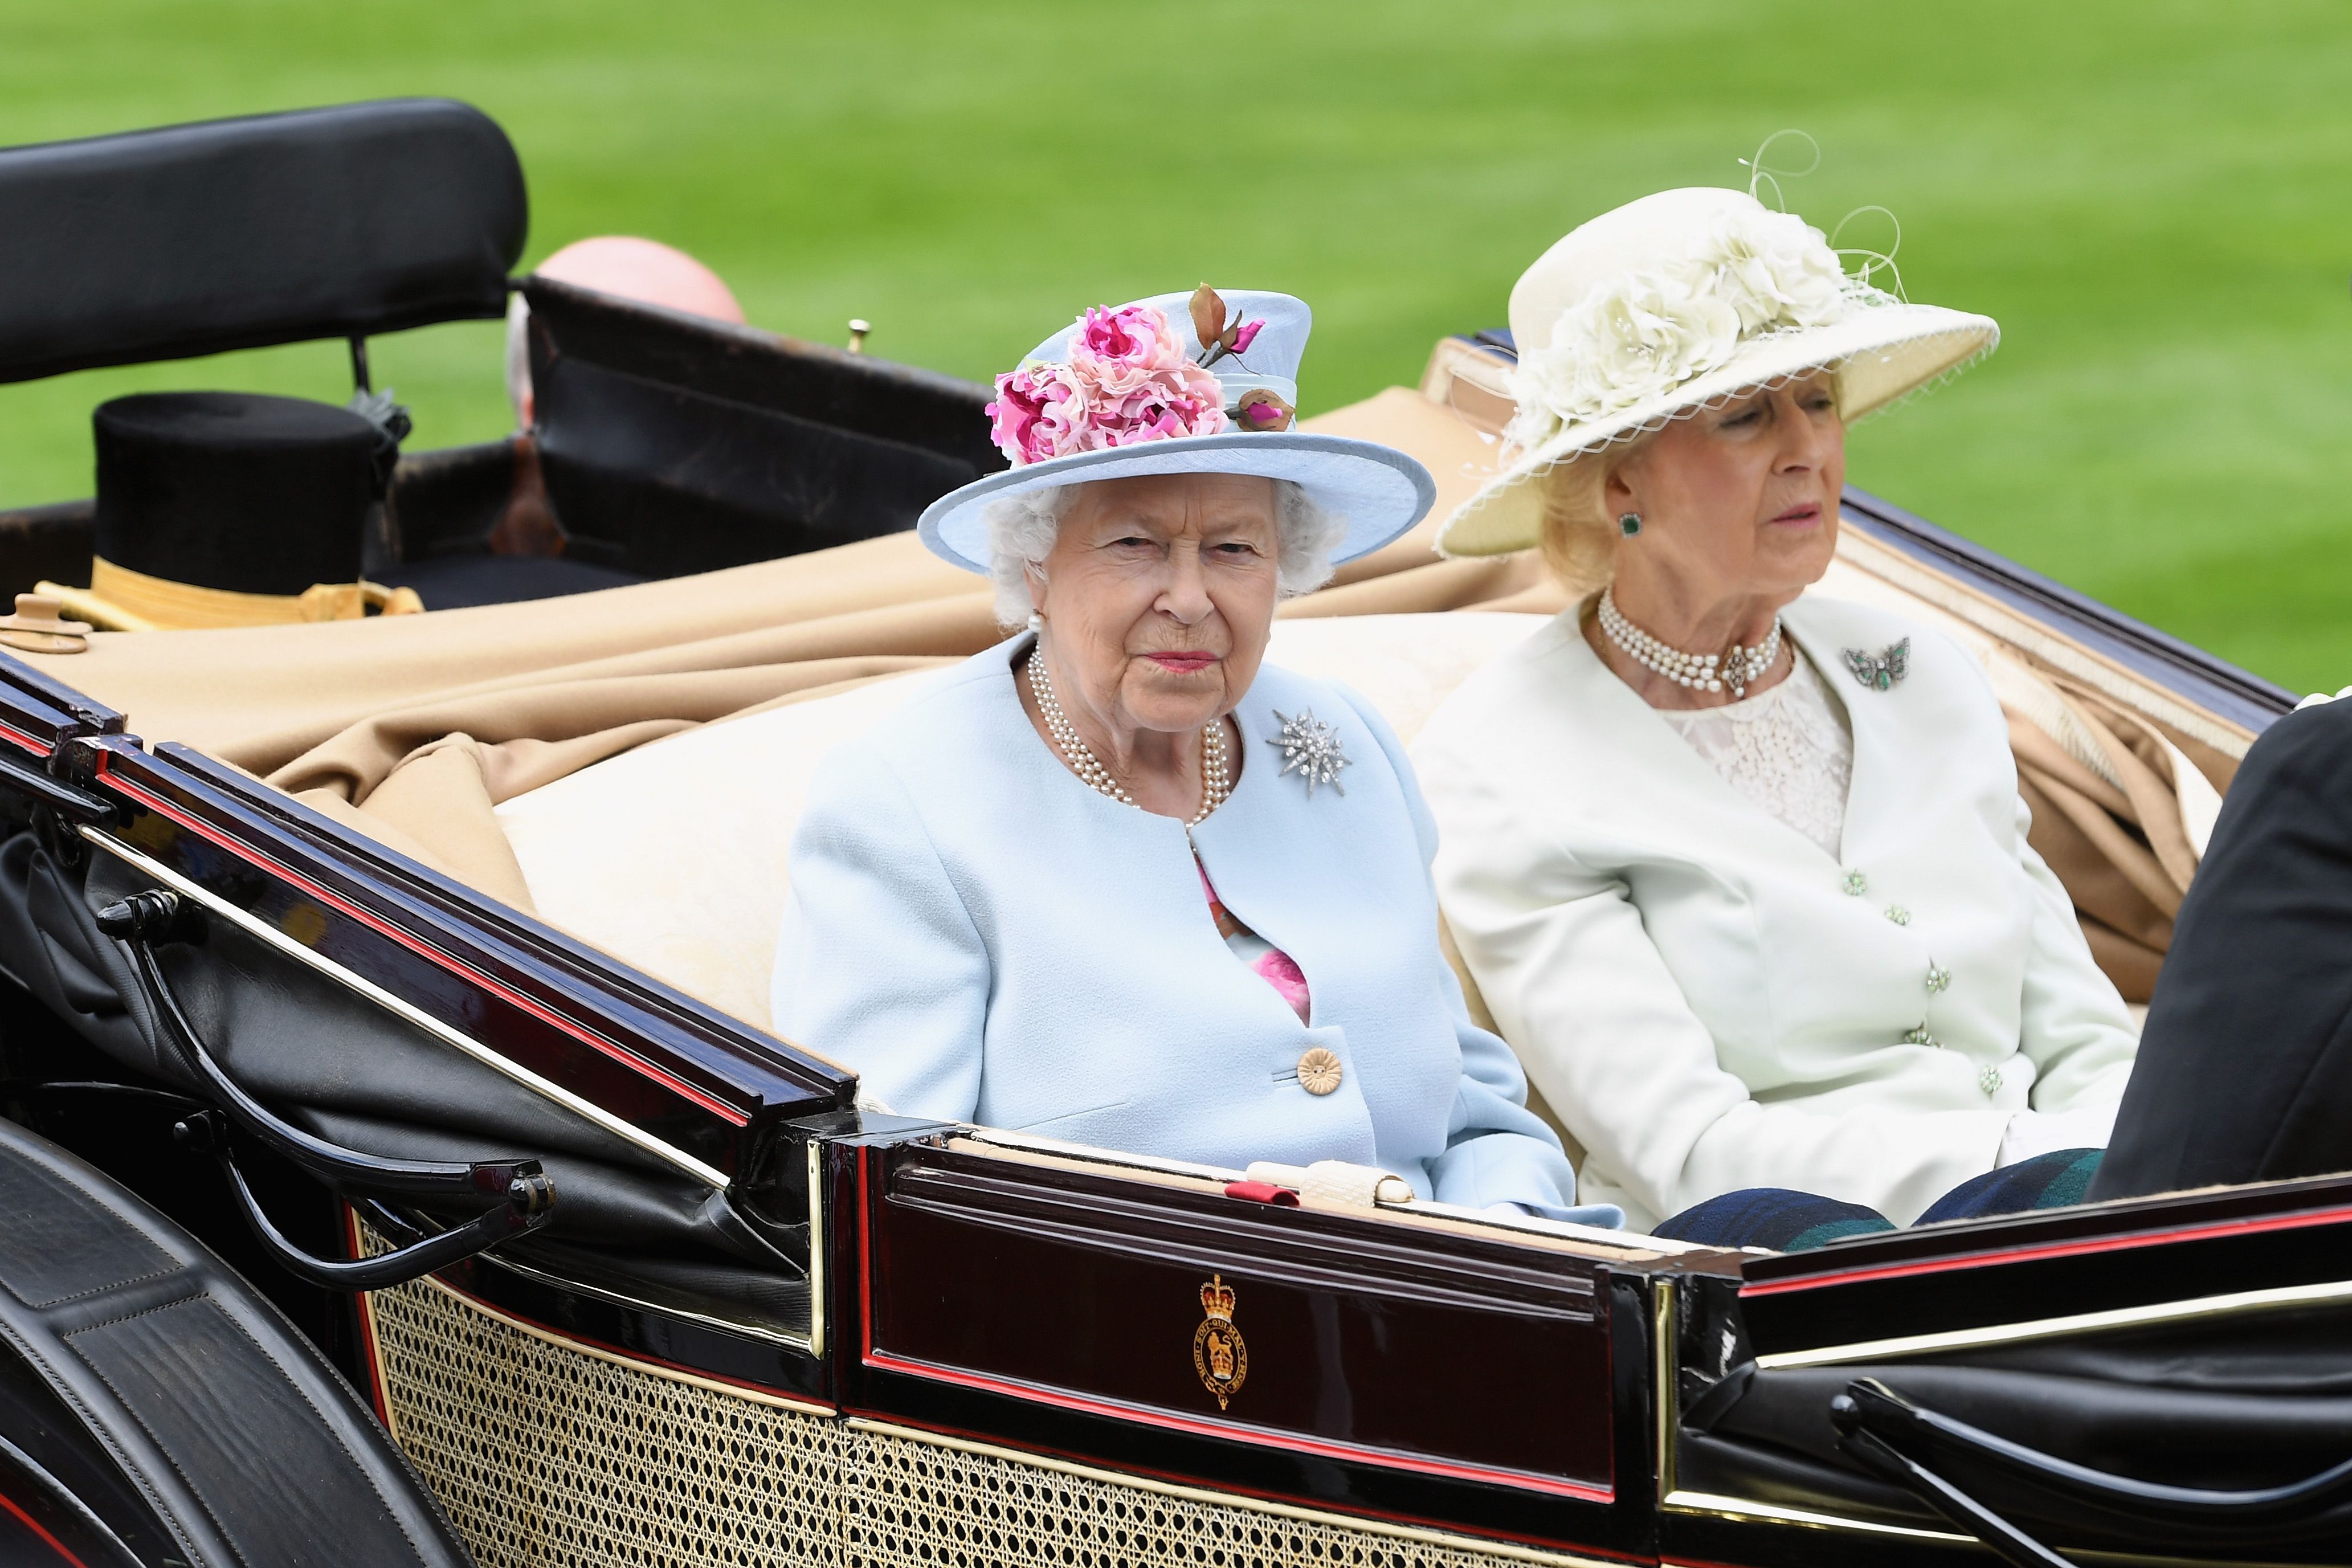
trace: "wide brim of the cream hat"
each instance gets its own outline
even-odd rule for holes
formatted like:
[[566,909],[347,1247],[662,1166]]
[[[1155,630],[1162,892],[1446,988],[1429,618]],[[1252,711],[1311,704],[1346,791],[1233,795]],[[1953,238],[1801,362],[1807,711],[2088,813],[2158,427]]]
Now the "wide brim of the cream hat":
[[1437,531],[1437,552],[1510,555],[1543,543],[1538,484],[1543,475],[1644,430],[1658,430],[1717,397],[1837,367],[1837,411],[1853,423],[1931,381],[1966,369],[1999,341],[2002,329],[1990,315],[1943,306],[1875,306],[1828,327],[1755,339],[1696,381],[1604,418],[1566,425],[1552,440],[1519,454],[1446,517]]

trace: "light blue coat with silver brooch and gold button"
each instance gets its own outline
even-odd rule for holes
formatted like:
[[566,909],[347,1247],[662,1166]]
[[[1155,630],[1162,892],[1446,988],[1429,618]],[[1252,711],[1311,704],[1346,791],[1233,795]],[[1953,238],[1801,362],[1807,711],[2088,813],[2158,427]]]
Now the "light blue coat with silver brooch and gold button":
[[[1235,919],[1296,959],[1312,1023],[1225,947],[1183,823],[1080,783],[1009,670],[931,677],[818,769],[793,839],[774,1020],[898,1114],[1242,1168],[1345,1159],[1446,1204],[1569,1211],[1576,1175],[1437,950],[1437,830],[1395,733],[1265,665],[1242,769],[1192,842]],[[1352,766],[1308,797],[1265,741],[1312,710]],[[1298,1058],[1331,1048],[1310,1095]]]

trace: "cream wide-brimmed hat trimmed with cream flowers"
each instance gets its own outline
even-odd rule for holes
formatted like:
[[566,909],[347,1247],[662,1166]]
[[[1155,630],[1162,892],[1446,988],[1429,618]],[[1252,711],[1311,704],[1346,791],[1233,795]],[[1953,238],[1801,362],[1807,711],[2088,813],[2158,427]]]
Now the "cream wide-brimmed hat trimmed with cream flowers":
[[1990,315],[1915,306],[1870,273],[1849,275],[1818,228],[1748,190],[1661,190],[1583,223],[1510,292],[1519,411],[1501,473],[1437,548],[1541,543],[1552,468],[1740,393],[1835,369],[1851,423],[2002,341]]

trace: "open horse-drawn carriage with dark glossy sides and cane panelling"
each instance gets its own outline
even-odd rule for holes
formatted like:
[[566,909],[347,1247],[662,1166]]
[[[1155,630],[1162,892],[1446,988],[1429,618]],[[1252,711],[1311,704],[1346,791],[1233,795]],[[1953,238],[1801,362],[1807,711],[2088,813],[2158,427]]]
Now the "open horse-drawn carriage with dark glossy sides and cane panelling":
[[[468,110],[376,106],[52,174],[87,200],[334,115],[386,167],[513,169]],[[466,289],[383,308],[383,235],[313,252],[308,294],[223,244],[247,287],[167,301],[176,336],[89,284],[82,341],[0,334],[0,374],[499,313],[520,174],[421,186],[482,197]],[[564,557],[644,581],[515,588],[501,444],[405,458],[369,564],[468,562],[470,609],[0,658],[19,1556],[2343,1561],[2352,1180],[1764,1255],[858,1110],[767,1032],[783,851],[814,759],[995,639],[903,531],[990,465],[983,393],[522,287]],[[1451,339],[1315,423],[1416,454],[1442,515],[1505,364]],[[71,588],[87,529],[0,522],[9,585]],[[1428,541],[1272,646],[1406,738],[1562,609],[1536,562]],[[1863,494],[1823,590],[1987,661],[2037,846],[2145,999],[2291,696]]]

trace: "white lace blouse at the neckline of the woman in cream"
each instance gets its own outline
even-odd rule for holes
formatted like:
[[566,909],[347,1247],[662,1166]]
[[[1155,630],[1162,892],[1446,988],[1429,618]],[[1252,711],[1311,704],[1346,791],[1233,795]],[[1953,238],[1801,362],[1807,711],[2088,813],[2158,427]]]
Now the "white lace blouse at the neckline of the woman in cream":
[[1658,715],[1724,783],[1839,858],[1853,726],[1802,651],[1771,691],[1724,708],[1661,708]]

